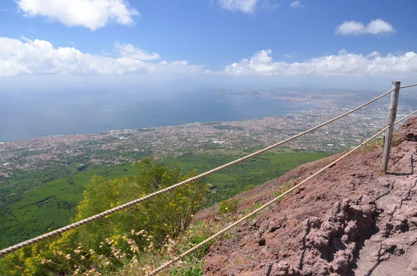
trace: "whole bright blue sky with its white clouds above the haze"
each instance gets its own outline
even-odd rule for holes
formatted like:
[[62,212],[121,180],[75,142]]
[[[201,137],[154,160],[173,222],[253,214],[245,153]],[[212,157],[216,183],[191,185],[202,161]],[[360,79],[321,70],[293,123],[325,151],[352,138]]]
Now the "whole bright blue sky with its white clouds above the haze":
[[416,1],[6,0],[0,3],[0,78],[412,79],[416,10]]

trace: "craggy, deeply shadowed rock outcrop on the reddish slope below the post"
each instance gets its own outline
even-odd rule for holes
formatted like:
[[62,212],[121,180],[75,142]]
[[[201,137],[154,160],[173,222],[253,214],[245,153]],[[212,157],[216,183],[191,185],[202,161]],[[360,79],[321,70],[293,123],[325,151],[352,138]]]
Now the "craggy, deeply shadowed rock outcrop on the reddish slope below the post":
[[[347,275],[363,242],[376,231],[377,214],[374,204],[343,200],[337,204],[334,216],[321,225],[311,225],[310,220],[318,218],[308,218],[302,253],[304,258],[300,259],[299,266],[304,272],[300,275]],[[321,264],[320,272],[314,269],[317,263]]]

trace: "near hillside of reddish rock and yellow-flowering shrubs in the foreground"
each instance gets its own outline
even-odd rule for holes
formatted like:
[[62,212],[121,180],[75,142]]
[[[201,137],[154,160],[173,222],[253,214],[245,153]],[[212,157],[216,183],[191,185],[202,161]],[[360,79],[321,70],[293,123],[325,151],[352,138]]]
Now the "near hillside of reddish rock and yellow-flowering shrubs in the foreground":
[[[202,275],[203,272],[205,275],[417,275],[414,266],[414,253],[417,252],[416,138],[417,119],[414,118],[395,133],[389,174],[379,171],[382,143],[375,140],[281,198],[259,216],[253,216],[224,234],[222,239],[184,257],[161,275]],[[222,208],[215,204],[197,213],[187,211],[194,222],[189,227],[181,226],[186,231],[179,231],[178,235],[171,236],[175,232],[168,225],[174,225],[176,221],[174,213],[178,213],[179,207],[175,204],[186,200],[183,206],[189,209],[192,202],[199,204],[195,211],[202,206],[202,200],[190,200],[193,191],[190,186],[178,194],[167,194],[171,195],[165,198],[168,203],[155,200],[149,202],[155,206],[140,204],[138,208],[142,209],[111,215],[108,218],[111,223],[97,220],[89,227],[80,227],[78,231],[68,232],[47,243],[8,254],[5,259],[0,259],[0,274],[145,275],[230,222],[242,218],[263,202],[276,198],[281,191],[300,183],[338,156],[340,154],[300,165],[275,180],[236,195],[233,199],[238,200],[239,206],[229,201],[223,202],[230,205],[222,205]],[[266,157],[271,160],[267,162]],[[261,163],[247,163],[241,168],[247,177],[233,182],[249,188],[248,185],[255,184],[252,182],[254,179],[262,182],[258,177],[265,171],[259,169],[260,165],[268,168],[270,174],[279,175],[282,165],[293,164],[294,168],[300,161],[299,157],[296,160],[286,157],[284,152],[259,156]],[[318,156],[309,157],[314,160]],[[185,171],[195,168],[188,157],[181,160]],[[161,178],[161,181],[167,181],[161,185],[166,186],[183,179],[182,173],[170,169],[167,161],[164,161],[167,167],[156,164],[147,167],[148,163],[142,163],[147,169],[142,166],[137,175],[110,182],[104,181],[104,177],[95,177],[85,189],[77,218],[99,213],[113,202],[129,202],[142,194],[152,193],[151,190],[142,190],[155,188],[147,185],[149,177],[160,179],[167,172],[169,177]],[[205,161],[203,165],[211,163]],[[243,173],[236,170],[224,172],[234,176]],[[212,179],[216,181],[206,180],[218,185],[221,179],[228,179],[226,175],[219,175],[219,179]],[[202,187],[206,190],[204,185]],[[220,190],[220,186],[215,188]],[[161,204],[167,212],[162,213],[162,217],[161,212],[152,212],[161,209]],[[229,211],[237,211],[225,213],[227,208],[224,206],[234,206]],[[163,227],[158,228],[159,225]],[[92,271],[92,267],[97,271]]]

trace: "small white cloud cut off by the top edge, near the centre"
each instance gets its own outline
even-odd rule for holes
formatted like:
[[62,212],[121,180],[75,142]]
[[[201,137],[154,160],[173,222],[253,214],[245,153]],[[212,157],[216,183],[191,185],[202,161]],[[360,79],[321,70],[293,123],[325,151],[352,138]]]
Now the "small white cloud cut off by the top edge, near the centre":
[[270,0],[218,0],[220,8],[254,14],[259,8],[274,10],[279,7],[278,3],[270,3]]

